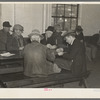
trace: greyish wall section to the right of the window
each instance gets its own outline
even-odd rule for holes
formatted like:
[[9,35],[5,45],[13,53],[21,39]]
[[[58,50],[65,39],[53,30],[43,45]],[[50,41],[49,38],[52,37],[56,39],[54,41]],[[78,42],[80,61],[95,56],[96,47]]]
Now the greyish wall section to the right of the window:
[[100,4],[82,4],[80,23],[84,35],[93,35],[100,30]]

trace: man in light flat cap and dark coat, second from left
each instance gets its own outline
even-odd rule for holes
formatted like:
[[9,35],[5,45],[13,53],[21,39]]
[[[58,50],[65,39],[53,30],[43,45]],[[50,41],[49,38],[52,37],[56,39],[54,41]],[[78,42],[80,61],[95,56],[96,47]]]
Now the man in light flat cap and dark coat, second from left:
[[22,33],[24,31],[24,27],[20,24],[15,24],[13,27],[13,34],[11,35],[11,39],[9,39],[9,42],[7,43],[7,49],[8,51],[19,51],[23,50],[25,46],[25,41],[22,36]]

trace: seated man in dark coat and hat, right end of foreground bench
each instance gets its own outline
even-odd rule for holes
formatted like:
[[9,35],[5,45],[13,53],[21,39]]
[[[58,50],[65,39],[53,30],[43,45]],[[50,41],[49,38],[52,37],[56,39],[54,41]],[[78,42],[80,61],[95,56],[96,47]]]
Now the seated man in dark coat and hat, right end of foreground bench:
[[62,69],[70,70],[73,75],[79,75],[86,71],[86,56],[83,43],[75,38],[75,32],[65,34],[64,39],[71,47],[69,53],[63,49],[57,49],[58,57],[55,63]]

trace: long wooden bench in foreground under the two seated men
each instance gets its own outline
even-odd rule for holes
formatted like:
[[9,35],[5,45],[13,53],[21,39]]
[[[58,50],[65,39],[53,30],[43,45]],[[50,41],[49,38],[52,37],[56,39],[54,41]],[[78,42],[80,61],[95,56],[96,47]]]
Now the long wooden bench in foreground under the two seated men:
[[52,74],[48,77],[27,77],[23,73],[11,73],[0,75],[0,85],[4,88],[40,88],[53,85],[64,86],[65,83],[79,82],[79,86],[87,87],[86,78],[90,71],[80,75],[73,76],[71,73]]

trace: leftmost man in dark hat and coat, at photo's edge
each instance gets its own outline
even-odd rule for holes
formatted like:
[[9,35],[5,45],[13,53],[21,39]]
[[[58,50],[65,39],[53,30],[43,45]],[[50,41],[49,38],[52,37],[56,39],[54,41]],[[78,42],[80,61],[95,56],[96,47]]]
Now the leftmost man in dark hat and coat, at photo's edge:
[[3,22],[3,29],[0,30],[0,51],[7,50],[7,40],[10,36],[10,23],[8,21]]

